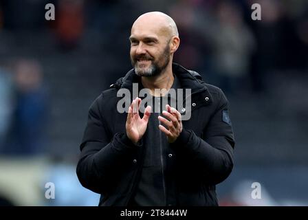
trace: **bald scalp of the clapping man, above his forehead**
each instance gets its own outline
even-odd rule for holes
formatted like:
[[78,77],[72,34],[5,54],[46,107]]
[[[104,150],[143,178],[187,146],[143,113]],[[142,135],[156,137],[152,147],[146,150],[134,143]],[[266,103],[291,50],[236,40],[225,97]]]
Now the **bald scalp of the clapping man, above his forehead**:
[[168,38],[172,36],[179,36],[177,31],[177,25],[175,21],[162,12],[147,12],[142,14],[137,20],[133,23],[132,30],[134,28],[151,28],[153,31],[162,34]]

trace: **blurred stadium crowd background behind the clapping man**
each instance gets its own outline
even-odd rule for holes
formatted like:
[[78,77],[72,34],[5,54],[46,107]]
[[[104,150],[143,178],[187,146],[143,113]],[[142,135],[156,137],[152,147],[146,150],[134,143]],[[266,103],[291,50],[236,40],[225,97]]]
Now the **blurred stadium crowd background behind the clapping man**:
[[308,205],[307,1],[0,0],[1,206],[98,205],[75,171],[87,111],[131,69],[131,25],[155,10],[177,23],[175,62],[230,101],[235,166],[220,205]]

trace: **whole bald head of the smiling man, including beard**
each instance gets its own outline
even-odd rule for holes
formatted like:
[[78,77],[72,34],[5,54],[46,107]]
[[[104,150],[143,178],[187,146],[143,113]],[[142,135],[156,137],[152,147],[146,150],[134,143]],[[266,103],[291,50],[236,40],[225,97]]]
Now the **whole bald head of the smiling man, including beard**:
[[131,27],[131,63],[138,76],[172,76],[173,54],[179,47],[177,25],[167,14],[142,14]]

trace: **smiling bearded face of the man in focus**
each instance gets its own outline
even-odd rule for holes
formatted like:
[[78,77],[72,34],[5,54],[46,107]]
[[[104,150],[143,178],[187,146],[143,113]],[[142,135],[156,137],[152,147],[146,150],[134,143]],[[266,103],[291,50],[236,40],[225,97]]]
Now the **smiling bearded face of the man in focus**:
[[138,76],[157,76],[170,62],[170,39],[148,25],[133,25],[131,64]]

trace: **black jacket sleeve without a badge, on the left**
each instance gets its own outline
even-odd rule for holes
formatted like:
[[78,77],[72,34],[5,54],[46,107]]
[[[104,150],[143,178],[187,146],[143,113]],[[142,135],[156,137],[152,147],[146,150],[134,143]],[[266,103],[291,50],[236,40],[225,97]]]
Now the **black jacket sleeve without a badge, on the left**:
[[137,147],[125,133],[115,133],[111,136],[102,115],[103,106],[101,94],[89,108],[76,168],[80,184],[100,194],[108,192],[113,186],[115,178],[119,177],[120,171],[127,166],[125,162],[128,161],[133,148]]

